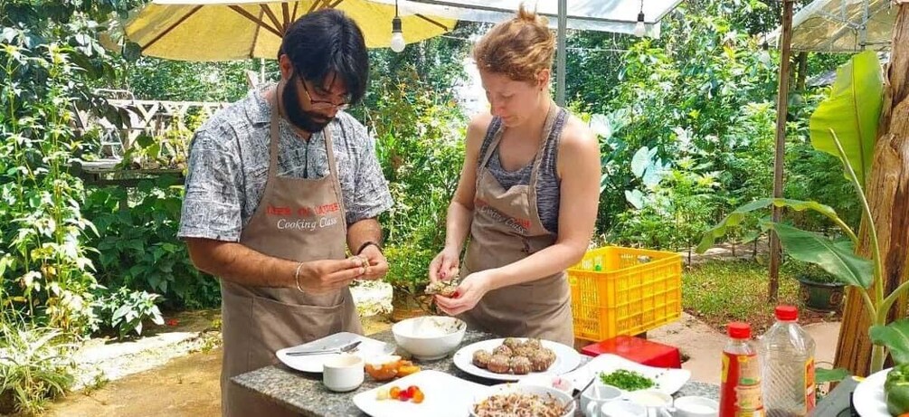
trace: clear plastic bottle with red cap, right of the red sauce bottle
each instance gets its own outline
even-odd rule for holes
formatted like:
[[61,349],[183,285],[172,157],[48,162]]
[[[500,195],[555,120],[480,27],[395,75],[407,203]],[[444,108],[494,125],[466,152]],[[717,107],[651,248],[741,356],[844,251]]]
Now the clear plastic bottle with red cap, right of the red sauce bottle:
[[768,417],[804,416],[814,408],[814,339],[798,325],[798,310],[779,305],[761,339],[764,409]]

